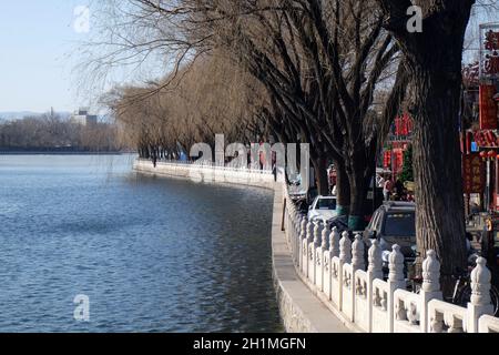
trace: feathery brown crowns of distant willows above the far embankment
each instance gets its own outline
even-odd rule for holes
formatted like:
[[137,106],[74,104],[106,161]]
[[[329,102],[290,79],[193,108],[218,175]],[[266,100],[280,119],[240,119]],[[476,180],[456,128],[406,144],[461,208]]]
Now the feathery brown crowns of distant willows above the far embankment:
[[198,142],[214,146],[217,133],[253,142],[266,133],[266,100],[259,83],[222,53],[203,55],[161,83],[116,88],[104,98],[147,159],[189,154]]

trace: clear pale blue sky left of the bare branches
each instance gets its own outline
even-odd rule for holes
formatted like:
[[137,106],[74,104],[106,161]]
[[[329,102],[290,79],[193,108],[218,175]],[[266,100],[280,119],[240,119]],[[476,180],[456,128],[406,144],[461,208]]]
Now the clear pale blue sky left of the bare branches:
[[74,9],[86,0],[0,3],[0,111],[73,111],[84,102],[72,90],[74,60],[85,39],[73,28]]

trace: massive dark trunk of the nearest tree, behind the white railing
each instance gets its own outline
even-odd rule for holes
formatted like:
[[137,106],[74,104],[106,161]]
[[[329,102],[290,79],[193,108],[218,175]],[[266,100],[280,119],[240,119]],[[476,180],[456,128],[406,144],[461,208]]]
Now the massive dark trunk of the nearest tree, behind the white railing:
[[421,33],[408,33],[407,0],[378,0],[407,59],[414,83],[414,163],[418,248],[435,250],[441,262],[442,291],[451,274],[466,267],[466,236],[459,146],[462,47],[472,0],[418,0]]

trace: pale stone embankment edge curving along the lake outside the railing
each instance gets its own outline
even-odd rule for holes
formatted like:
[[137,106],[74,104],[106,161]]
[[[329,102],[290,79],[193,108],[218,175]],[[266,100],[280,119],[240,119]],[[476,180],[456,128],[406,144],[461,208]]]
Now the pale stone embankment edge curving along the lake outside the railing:
[[355,332],[348,322],[337,318],[304,283],[293,263],[292,252],[283,232],[284,196],[282,183],[271,173],[241,172],[231,169],[197,166],[176,163],[157,163],[138,160],[134,170],[156,176],[189,179],[196,182],[257,186],[274,191],[272,222],[273,272],[277,300],[285,328],[288,333],[347,333]]

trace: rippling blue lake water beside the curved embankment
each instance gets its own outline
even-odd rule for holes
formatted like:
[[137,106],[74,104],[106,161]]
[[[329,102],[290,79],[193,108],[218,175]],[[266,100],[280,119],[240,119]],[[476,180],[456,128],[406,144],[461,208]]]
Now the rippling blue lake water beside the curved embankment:
[[132,163],[0,155],[0,332],[282,332],[272,193]]

